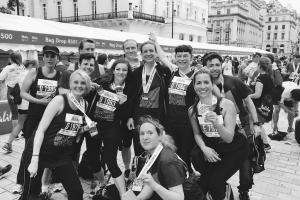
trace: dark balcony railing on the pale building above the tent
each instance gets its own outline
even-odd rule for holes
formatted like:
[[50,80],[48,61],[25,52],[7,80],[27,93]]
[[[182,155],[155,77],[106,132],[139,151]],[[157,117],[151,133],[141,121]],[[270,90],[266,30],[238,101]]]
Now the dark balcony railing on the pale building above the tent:
[[[72,17],[53,18],[49,20],[70,23],[70,22],[83,22],[83,21],[106,20],[106,19],[122,19],[122,18],[126,19],[129,18],[128,13],[129,13],[128,11],[120,11],[120,12],[100,13],[96,15],[80,15],[80,16],[72,16]],[[159,17],[156,15],[150,15],[150,14],[136,12],[136,11],[133,11],[133,18],[165,23],[164,17]]]

